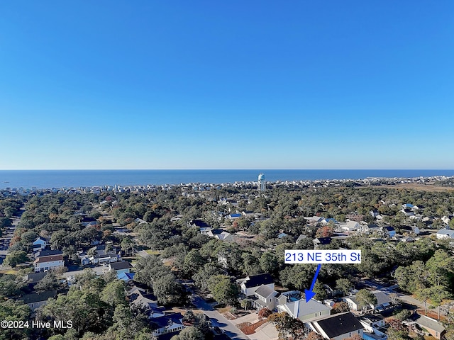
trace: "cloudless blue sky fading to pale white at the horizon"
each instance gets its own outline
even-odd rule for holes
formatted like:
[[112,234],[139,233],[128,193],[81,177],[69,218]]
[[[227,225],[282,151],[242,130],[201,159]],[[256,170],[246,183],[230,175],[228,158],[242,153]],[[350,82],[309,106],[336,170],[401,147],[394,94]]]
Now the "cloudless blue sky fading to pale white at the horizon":
[[454,169],[454,1],[0,13],[0,169]]

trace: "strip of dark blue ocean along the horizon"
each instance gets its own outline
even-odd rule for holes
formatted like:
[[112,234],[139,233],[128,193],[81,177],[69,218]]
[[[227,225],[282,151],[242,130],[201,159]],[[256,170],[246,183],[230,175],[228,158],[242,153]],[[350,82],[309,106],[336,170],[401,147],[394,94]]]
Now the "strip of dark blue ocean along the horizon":
[[1,170],[0,189],[454,176],[454,170]]

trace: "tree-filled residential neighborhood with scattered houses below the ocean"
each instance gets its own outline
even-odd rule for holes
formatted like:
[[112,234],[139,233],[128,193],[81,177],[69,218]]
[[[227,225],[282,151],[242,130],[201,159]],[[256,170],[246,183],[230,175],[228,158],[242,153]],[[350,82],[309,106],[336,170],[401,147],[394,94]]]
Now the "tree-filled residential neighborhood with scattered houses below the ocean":
[[[2,191],[2,315],[71,319],[26,333],[48,339],[454,339],[453,193],[300,185]],[[323,264],[306,301],[316,266],[286,249],[362,261]]]

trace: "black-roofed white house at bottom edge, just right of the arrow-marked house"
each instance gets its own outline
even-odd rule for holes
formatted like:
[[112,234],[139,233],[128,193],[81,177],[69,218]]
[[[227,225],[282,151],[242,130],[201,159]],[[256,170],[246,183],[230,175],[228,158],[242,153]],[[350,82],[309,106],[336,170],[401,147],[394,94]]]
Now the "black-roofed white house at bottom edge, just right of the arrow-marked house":
[[323,338],[333,340],[350,338],[355,334],[362,338],[364,331],[362,324],[350,312],[334,314],[325,319],[309,322],[307,325],[312,331],[323,336]]

